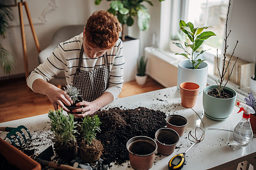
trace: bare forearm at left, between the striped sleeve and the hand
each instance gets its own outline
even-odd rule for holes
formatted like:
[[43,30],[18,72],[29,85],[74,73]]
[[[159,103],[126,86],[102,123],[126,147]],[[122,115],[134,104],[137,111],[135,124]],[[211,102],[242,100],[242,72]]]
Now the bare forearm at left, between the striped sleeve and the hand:
[[42,79],[36,79],[32,85],[32,89],[35,92],[44,94],[44,95],[47,95],[47,92],[49,92],[49,89],[55,89],[55,88],[58,88],[58,87],[56,87],[56,86],[52,85],[51,83],[48,83]]

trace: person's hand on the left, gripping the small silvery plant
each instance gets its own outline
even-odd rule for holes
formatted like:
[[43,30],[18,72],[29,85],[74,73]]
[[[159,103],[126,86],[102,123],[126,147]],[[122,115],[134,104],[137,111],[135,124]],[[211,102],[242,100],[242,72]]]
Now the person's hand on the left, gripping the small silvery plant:
[[52,86],[51,88],[49,88],[49,90],[47,90],[46,96],[51,101],[54,110],[58,110],[58,106],[60,106],[60,108],[63,108],[63,110],[70,111],[64,106],[63,103],[65,103],[67,106],[70,106],[71,104],[73,104],[73,101],[64,90]]

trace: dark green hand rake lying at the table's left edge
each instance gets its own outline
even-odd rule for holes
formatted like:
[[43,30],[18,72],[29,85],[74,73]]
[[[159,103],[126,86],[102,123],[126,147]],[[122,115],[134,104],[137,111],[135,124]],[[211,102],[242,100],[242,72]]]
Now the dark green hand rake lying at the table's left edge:
[[22,135],[22,137],[24,138],[25,143],[27,142],[27,139],[24,135],[24,133],[21,131],[21,129],[25,129],[28,132],[28,136],[31,139],[31,134],[29,133],[28,129],[24,126],[24,125],[20,125],[19,127],[0,127],[0,131],[4,131],[4,132],[8,132],[8,134],[6,134],[6,138],[10,139],[12,141],[12,145],[17,147],[15,145],[14,139],[12,138],[12,136],[15,136],[20,144],[20,147],[22,146],[22,143],[20,141],[19,136],[16,134],[16,132],[20,132],[20,134]]

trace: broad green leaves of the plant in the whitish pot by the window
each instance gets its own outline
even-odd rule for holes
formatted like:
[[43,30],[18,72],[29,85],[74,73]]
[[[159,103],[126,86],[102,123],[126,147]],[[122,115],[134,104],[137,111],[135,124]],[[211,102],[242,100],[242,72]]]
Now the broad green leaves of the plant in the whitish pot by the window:
[[216,36],[214,32],[212,31],[204,31],[205,29],[209,27],[194,27],[194,25],[191,22],[184,22],[184,20],[180,20],[179,22],[180,30],[188,36],[189,43],[185,42],[184,45],[187,48],[190,48],[191,52],[189,53],[188,50],[186,50],[180,43],[174,43],[175,45],[179,46],[179,48],[182,48],[185,53],[175,53],[176,55],[183,55],[193,65],[193,69],[198,69],[200,64],[204,61],[202,59],[197,59],[199,55],[204,53],[207,50],[201,50],[196,56],[195,52],[198,50],[198,48],[204,43],[205,39],[210,38],[211,36]]

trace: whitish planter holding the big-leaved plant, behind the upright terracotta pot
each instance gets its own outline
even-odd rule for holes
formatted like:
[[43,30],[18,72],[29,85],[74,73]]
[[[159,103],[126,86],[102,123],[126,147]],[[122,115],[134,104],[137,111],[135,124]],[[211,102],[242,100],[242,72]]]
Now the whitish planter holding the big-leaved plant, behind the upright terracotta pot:
[[180,61],[178,64],[177,89],[180,83],[193,82],[200,86],[199,94],[202,94],[207,84],[208,65],[202,62],[198,69],[191,69],[193,65],[189,60]]

